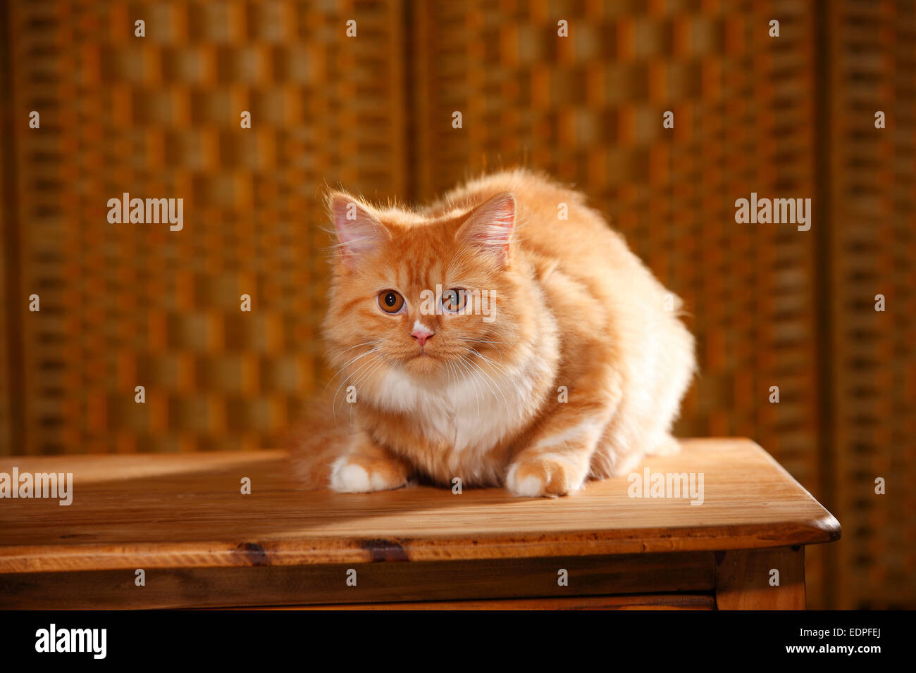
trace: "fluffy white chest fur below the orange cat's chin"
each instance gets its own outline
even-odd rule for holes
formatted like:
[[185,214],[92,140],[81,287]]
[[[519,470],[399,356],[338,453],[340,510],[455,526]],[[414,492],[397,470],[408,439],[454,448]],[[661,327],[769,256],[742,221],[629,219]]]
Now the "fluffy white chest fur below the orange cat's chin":
[[525,421],[533,382],[524,372],[514,374],[453,372],[446,381],[433,383],[392,370],[377,401],[407,415],[431,443],[444,443],[459,454],[476,453],[493,448]]

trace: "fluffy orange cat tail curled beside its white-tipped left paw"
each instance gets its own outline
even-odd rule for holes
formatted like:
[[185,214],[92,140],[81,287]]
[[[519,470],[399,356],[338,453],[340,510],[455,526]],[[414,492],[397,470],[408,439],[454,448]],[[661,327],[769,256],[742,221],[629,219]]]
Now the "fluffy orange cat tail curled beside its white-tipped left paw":
[[[343,411],[343,413],[342,413]],[[326,489],[334,461],[344,455],[353,434],[349,415],[333,403],[316,399],[286,441],[293,476],[307,491]]]

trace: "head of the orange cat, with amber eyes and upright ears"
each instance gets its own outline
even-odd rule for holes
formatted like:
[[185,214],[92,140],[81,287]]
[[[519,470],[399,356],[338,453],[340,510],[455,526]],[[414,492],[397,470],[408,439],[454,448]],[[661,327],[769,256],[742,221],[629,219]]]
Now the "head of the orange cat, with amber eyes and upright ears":
[[328,203],[337,244],[324,333],[340,381],[358,388],[392,368],[446,381],[515,359],[538,307],[511,193],[434,217],[340,192]]

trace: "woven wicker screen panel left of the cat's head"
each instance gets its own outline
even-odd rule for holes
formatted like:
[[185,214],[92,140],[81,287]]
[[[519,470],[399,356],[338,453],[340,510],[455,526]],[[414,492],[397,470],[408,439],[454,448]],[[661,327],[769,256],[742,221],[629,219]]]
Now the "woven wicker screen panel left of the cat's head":
[[[321,189],[403,189],[400,8],[13,3],[9,21],[19,294],[40,298],[16,301],[12,450],[275,445],[321,375]],[[123,192],[183,198],[183,229],[108,223]]]

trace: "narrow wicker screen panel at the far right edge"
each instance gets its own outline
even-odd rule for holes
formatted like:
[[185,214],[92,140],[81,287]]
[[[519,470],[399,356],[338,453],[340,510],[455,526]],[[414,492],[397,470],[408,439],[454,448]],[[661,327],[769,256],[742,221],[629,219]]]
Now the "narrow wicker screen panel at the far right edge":
[[832,583],[843,607],[913,607],[916,4],[831,4],[829,25]]

